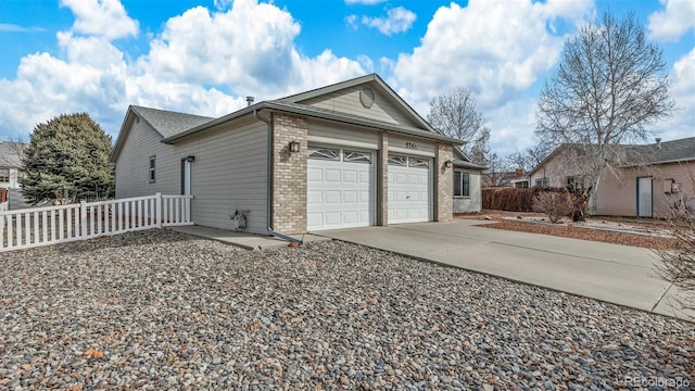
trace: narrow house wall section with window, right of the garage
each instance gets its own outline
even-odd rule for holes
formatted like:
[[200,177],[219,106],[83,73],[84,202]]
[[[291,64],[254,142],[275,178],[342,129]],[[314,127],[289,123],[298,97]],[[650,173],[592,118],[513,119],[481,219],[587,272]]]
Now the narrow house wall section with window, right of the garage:
[[458,148],[454,148],[454,213],[482,210],[482,171]]

